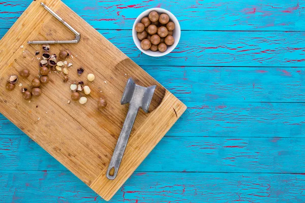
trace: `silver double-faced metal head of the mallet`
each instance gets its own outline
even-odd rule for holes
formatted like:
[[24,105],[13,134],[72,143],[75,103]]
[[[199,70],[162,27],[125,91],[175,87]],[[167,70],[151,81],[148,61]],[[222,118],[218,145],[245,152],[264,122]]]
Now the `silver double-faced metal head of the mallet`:
[[121,105],[134,104],[143,109],[145,113],[148,113],[150,101],[153,98],[157,85],[142,87],[136,85],[132,78],[129,78],[121,98]]

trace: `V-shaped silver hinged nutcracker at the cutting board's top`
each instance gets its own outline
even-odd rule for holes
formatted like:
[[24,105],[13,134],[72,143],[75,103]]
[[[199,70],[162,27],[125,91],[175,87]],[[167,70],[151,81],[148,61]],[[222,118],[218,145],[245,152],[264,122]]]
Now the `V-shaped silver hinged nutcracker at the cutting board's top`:
[[63,18],[60,18],[54,11],[52,11],[49,7],[44,5],[44,3],[41,3],[41,6],[43,6],[48,12],[50,12],[57,20],[62,22],[66,27],[68,27],[74,34],[75,39],[74,40],[63,40],[63,41],[29,41],[27,44],[69,44],[69,43],[78,43],[80,40],[80,33],[78,33],[71,25],[69,25],[66,21],[63,20]]

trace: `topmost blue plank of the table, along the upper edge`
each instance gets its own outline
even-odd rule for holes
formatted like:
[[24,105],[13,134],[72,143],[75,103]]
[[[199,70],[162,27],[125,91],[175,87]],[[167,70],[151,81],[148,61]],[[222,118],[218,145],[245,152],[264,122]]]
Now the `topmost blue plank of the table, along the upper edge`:
[[[1,27],[11,27],[32,0],[3,1]],[[297,0],[188,1],[188,0],[65,0],[73,11],[99,29],[131,29],[143,11],[161,7],[170,10],[184,30],[304,30],[305,3]],[[69,22],[69,19],[67,19]]]

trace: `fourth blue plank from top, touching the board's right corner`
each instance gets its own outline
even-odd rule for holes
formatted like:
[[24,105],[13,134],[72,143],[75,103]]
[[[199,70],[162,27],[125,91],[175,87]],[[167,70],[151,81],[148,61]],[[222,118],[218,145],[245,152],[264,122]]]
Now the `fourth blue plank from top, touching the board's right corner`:
[[[303,138],[305,103],[186,102],[187,111],[166,136]],[[0,120],[1,121],[1,120]],[[8,122],[7,120],[4,120]],[[20,134],[1,124],[0,134]]]

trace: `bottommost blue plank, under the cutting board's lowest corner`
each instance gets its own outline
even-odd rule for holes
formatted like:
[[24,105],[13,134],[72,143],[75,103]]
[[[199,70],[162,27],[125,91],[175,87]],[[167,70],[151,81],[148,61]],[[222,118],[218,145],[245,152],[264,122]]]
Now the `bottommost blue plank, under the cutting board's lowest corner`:
[[[135,173],[109,202],[303,202],[303,174]],[[106,202],[70,172],[0,171],[3,202]]]

